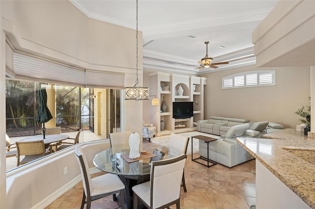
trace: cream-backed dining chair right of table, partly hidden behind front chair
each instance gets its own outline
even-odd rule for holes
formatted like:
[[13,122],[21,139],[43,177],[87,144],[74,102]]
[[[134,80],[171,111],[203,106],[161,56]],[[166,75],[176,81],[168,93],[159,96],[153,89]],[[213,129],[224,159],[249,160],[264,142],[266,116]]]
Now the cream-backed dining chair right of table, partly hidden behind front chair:
[[[189,137],[171,133],[170,139],[169,139],[169,152],[168,152],[169,155],[171,156],[179,156],[181,154],[186,155],[188,142],[189,142]],[[181,186],[183,186],[184,192],[187,192],[184,172],[183,172],[183,181],[182,181]]]

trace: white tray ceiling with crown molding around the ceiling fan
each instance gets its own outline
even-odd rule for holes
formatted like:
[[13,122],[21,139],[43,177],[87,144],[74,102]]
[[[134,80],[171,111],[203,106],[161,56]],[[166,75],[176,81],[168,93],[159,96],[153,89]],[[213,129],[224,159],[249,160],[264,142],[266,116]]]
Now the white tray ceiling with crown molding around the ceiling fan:
[[[135,0],[70,1],[90,18],[136,28]],[[144,68],[200,74],[255,64],[252,31],[278,1],[139,0]],[[194,70],[206,55],[205,41],[210,41],[213,63],[230,60],[230,64]]]

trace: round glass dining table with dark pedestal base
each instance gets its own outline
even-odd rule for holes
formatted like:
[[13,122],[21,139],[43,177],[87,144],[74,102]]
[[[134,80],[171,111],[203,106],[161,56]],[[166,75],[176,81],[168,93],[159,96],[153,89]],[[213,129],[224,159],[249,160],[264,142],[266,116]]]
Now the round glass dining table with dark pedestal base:
[[[140,159],[132,162],[126,160],[126,156],[129,155],[129,145],[121,145],[113,148],[109,148],[98,153],[94,159],[94,165],[101,171],[106,173],[116,174],[120,177],[122,182],[125,184],[125,208],[132,208],[132,186],[150,181],[150,172],[151,172],[151,159],[157,160],[157,155],[163,154],[162,158],[167,159],[170,157],[175,157],[169,154],[168,149],[161,147],[157,144],[150,143],[150,147],[145,147],[146,153],[140,153]],[[145,155],[153,157],[145,157]],[[117,196],[119,199],[120,197]],[[119,202],[119,201],[118,201]]]

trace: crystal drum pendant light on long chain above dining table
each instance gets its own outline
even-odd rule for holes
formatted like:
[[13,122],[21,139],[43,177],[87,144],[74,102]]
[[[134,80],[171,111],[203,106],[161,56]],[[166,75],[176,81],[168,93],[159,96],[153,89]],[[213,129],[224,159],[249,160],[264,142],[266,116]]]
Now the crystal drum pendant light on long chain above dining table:
[[137,10],[136,10],[136,83],[131,87],[125,87],[125,100],[149,100],[149,88],[139,87],[138,83],[138,0],[136,0]]

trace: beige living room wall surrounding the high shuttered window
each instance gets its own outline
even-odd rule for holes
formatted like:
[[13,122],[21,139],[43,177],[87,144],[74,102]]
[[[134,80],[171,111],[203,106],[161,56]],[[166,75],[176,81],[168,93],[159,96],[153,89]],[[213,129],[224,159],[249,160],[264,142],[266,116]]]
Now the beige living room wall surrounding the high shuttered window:
[[[222,89],[223,77],[256,70],[276,71],[276,85]],[[300,124],[294,112],[310,96],[310,67],[256,68],[247,66],[202,75],[205,85],[205,119],[209,116],[269,121],[295,128]]]

